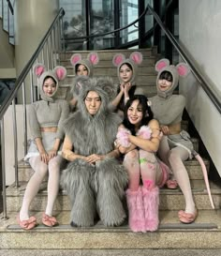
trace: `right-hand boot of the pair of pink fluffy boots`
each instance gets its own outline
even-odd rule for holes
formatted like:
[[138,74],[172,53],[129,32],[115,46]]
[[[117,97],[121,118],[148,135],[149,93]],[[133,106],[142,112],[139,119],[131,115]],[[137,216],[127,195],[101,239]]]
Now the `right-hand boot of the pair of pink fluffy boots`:
[[159,188],[142,188],[146,231],[156,231],[159,225]]

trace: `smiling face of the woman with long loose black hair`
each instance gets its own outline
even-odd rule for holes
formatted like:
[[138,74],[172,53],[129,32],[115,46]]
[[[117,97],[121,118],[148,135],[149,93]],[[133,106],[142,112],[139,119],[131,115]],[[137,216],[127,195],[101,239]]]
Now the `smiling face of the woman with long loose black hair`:
[[127,110],[127,118],[134,126],[139,126],[142,120],[142,107],[138,99],[135,99]]

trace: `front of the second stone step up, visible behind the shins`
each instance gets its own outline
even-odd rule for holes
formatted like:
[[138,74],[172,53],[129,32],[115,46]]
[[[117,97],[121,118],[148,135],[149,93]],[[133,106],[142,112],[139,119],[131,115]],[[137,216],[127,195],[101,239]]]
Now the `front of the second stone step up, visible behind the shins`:
[[[26,182],[21,182],[20,188],[15,188],[11,185],[7,188],[7,210],[8,211],[19,211],[22,205],[22,197],[24,190],[26,188]],[[47,203],[47,182],[42,183],[36,198],[30,206],[33,211],[45,210]],[[211,188],[215,209],[219,209],[221,205],[221,189]],[[205,188],[192,188],[194,200],[198,209],[211,209],[211,203]],[[179,210],[184,209],[184,195],[180,188],[160,189],[160,210]],[[60,190],[56,203],[54,205],[54,210],[70,210],[69,198],[66,194],[66,190]]]

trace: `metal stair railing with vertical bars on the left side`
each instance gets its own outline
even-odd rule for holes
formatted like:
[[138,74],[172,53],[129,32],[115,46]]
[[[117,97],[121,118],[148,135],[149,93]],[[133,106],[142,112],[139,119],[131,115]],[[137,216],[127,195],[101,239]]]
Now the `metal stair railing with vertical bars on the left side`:
[[30,83],[30,98],[31,102],[34,102],[39,98],[36,85],[37,81],[33,77],[33,66],[37,62],[43,63],[48,69],[52,69],[60,63],[59,54],[63,51],[63,45],[61,39],[64,37],[63,17],[65,11],[61,8],[54,18],[52,25],[47,31],[44,38],[42,38],[36,52],[32,55],[26,66],[22,69],[22,73],[18,77],[15,86],[7,95],[0,106],[0,127],[1,127],[1,158],[2,158],[2,179],[3,179],[3,218],[7,218],[7,197],[6,197],[6,164],[5,164],[5,133],[4,133],[4,116],[7,113],[9,106],[12,106],[12,122],[13,122],[13,138],[14,138],[14,162],[15,162],[15,186],[19,187],[18,178],[18,146],[17,146],[17,123],[16,123],[16,108],[15,98],[19,89],[22,88],[22,110],[23,110],[23,136],[24,136],[24,155],[27,153],[27,122],[26,122],[26,83]]

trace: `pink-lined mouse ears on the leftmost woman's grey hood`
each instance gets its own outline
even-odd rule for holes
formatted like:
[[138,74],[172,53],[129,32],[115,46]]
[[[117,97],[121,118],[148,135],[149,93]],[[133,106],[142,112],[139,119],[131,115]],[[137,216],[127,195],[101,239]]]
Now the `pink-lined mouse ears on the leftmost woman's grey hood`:
[[[46,70],[44,64],[41,64],[41,63],[37,63],[33,68],[33,72],[35,75],[37,75],[37,78],[39,78],[46,71],[47,70]],[[51,70],[49,70],[49,71],[51,71]],[[52,71],[58,81],[62,81],[66,78],[66,68],[65,67],[57,66],[57,67],[53,68]]]

